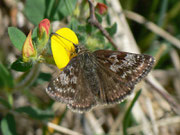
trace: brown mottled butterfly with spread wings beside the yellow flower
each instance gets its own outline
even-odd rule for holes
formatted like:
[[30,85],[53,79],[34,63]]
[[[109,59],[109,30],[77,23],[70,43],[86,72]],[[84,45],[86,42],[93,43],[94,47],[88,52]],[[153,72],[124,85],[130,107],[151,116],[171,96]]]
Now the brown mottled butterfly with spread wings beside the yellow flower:
[[90,52],[83,45],[74,44],[74,47],[77,56],[49,83],[46,92],[76,112],[122,102],[150,72],[155,61],[144,54]]

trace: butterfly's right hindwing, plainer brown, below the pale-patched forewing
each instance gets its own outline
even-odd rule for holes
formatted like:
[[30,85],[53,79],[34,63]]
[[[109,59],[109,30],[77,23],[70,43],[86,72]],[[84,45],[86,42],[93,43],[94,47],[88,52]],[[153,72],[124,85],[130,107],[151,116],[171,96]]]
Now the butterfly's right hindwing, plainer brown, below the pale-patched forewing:
[[[100,65],[99,65],[100,66]],[[103,66],[97,70],[100,86],[99,101],[101,104],[113,104],[121,102],[132,92],[133,85],[121,82],[119,76],[112,74]]]

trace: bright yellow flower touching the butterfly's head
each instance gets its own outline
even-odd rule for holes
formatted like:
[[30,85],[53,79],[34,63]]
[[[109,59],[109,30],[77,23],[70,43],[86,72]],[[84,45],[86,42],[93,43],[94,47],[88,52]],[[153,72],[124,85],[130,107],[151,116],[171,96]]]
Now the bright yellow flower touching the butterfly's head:
[[78,44],[76,34],[69,28],[61,28],[51,37],[51,50],[59,69],[67,66],[75,54],[73,44]]

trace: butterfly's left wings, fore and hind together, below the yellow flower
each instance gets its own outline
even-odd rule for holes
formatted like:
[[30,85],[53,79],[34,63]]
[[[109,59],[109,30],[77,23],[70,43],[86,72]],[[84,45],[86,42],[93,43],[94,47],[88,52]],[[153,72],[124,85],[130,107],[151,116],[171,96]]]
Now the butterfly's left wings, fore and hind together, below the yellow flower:
[[56,101],[66,103],[74,111],[87,111],[96,105],[91,90],[84,82],[80,56],[71,59],[69,64],[52,80],[46,92]]

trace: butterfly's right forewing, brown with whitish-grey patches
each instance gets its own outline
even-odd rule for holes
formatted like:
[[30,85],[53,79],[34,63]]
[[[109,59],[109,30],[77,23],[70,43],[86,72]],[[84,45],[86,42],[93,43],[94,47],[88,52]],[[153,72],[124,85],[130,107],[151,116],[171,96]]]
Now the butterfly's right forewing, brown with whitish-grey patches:
[[118,75],[121,82],[137,83],[149,73],[154,58],[144,54],[99,50],[94,52],[100,65]]

